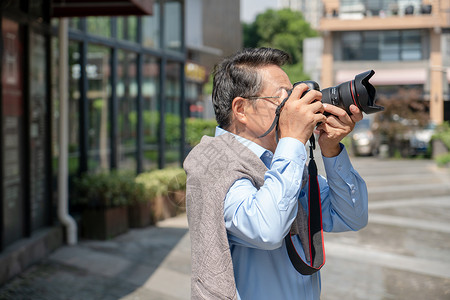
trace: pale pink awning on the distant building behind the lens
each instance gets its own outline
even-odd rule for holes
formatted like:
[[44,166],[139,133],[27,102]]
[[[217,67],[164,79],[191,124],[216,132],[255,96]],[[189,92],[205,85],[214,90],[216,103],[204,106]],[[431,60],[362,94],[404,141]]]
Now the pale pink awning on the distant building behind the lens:
[[[367,70],[339,70],[336,72],[336,84],[344,81],[353,80],[355,75]],[[373,85],[409,85],[409,84],[425,84],[427,82],[427,69],[381,69],[376,70],[375,75],[370,79]]]

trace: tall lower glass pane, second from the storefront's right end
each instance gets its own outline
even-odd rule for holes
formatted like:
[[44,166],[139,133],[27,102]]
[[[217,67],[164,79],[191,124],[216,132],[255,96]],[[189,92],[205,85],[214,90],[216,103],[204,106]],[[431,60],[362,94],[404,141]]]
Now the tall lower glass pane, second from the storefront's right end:
[[159,131],[159,73],[160,63],[155,57],[144,56],[142,67],[143,127],[144,127],[144,167],[148,171],[158,166]]

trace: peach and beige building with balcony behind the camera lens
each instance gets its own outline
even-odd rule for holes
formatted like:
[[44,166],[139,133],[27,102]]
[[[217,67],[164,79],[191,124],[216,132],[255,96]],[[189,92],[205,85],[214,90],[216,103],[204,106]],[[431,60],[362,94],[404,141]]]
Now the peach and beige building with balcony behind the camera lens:
[[374,69],[378,94],[420,90],[430,119],[450,120],[450,1],[324,0],[321,86]]

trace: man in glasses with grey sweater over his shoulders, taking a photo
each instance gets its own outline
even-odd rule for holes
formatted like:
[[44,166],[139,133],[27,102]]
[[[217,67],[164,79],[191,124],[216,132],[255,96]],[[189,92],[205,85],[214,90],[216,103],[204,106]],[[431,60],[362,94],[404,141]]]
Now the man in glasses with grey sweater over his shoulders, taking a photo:
[[193,299],[320,298],[320,272],[297,271],[285,239],[296,227],[294,252],[311,261],[301,224],[310,217],[305,144],[315,129],[327,175],[318,178],[320,226],[339,232],[367,223],[366,185],[340,143],[362,113],[322,104],[305,84],[293,87],[281,69],[288,59],[245,49],[216,66],[216,137],[204,137],[184,163]]

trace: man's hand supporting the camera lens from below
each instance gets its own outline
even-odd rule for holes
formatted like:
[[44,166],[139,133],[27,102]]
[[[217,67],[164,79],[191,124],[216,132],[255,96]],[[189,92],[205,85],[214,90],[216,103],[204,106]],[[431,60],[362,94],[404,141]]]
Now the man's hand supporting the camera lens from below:
[[356,122],[362,120],[362,112],[356,105],[350,105],[352,115],[349,116],[345,110],[331,104],[324,104],[324,110],[331,115],[326,121],[317,126],[319,132],[319,145],[322,155],[325,157],[333,157],[339,155],[341,147],[340,141],[347,136]]

